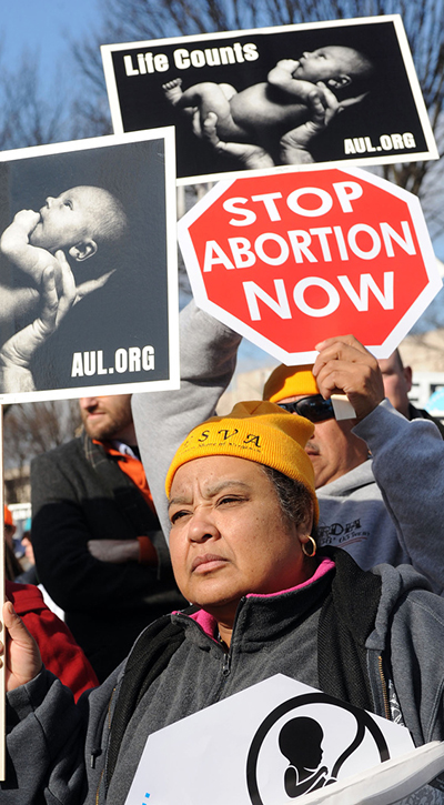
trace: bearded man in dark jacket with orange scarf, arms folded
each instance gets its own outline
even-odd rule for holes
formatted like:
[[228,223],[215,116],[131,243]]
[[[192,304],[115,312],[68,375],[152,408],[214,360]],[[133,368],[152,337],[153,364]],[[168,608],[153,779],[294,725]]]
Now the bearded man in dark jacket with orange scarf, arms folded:
[[150,621],[184,603],[139,459],[130,401],[130,394],[82,398],[82,435],[31,465],[38,575],[101,681]]

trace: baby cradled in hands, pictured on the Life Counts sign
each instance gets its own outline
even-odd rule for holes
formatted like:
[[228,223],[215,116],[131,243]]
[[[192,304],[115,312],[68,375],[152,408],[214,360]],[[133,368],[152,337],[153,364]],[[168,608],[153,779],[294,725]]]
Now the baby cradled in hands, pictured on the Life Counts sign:
[[374,72],[363,53],[331,44],[281,59],[266,81],[240,92],[210,81],[183,91],[181,78],[163,89],[170,103],[190,115],[196,133],[204,137],[206,128],[216,150],[245,168],[261,168],[310,161],[306,124],[315,122],[321,131],[340,108],[362,101]]

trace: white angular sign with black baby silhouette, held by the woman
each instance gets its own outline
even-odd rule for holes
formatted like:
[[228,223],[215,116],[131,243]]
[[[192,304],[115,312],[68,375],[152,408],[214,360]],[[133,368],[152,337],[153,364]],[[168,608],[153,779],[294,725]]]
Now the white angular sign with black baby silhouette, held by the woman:
[[153,733],[125,805],[322,802],[412,749],[404,727],[276,674]]

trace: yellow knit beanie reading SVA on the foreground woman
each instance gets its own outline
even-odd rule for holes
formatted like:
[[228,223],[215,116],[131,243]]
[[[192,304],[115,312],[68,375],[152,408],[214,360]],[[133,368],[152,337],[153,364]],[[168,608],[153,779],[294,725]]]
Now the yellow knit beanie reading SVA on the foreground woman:
[[304,416],[290,414],[274,403],[238,403],[226,416],[212,416],[189,433],[168,471],[167,495],[170,496],[174,474],[182,464],[206,455],[233,455],[272,466],[300,481],[313,499],[317,523],[314,473],[304,450],[313,430]]

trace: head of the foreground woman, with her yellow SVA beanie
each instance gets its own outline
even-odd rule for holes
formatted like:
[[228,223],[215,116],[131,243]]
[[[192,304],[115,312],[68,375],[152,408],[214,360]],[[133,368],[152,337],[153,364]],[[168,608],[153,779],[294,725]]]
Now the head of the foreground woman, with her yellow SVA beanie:
[[238,403],[191,431],[171,463],[174,575],[185,597],[215,616],[226,646],[243,595],[289,590],[317,566],[319,509],[304,450],[312,432],[273,403]]

